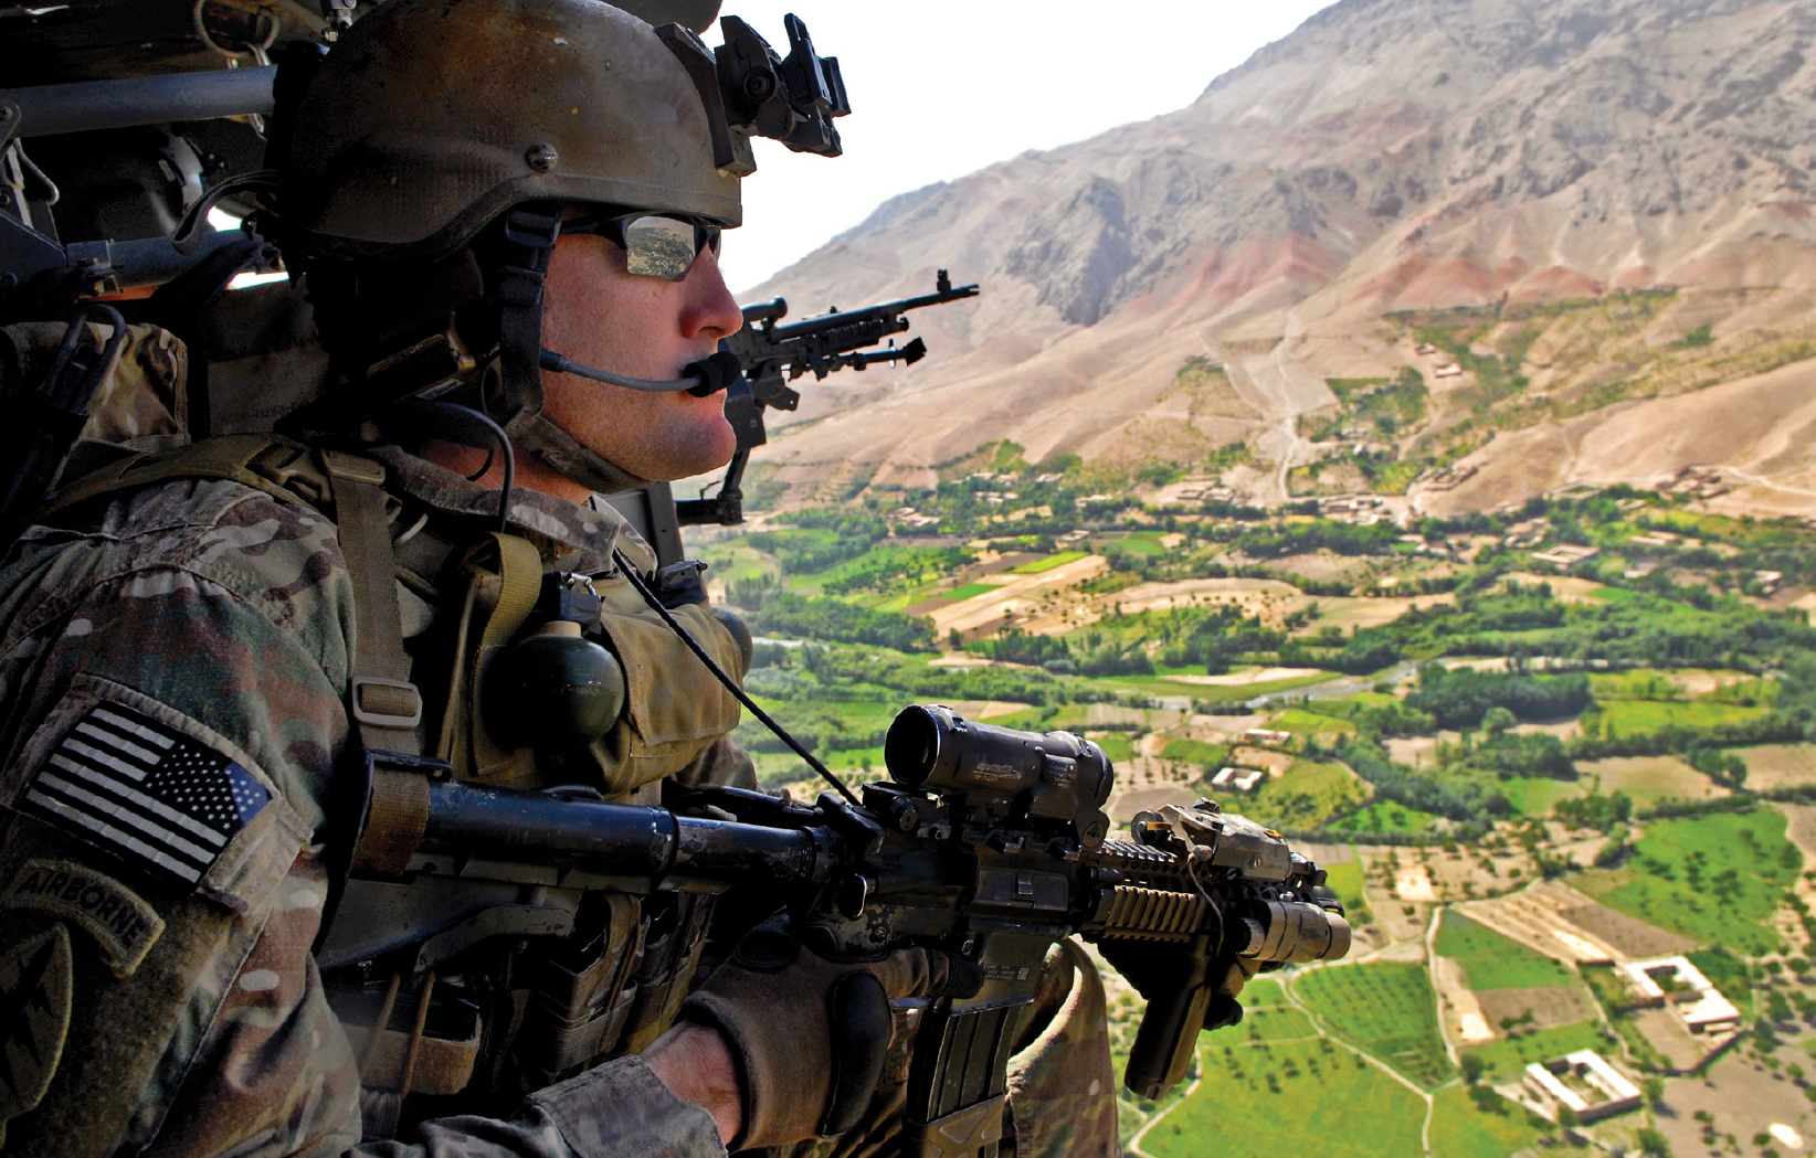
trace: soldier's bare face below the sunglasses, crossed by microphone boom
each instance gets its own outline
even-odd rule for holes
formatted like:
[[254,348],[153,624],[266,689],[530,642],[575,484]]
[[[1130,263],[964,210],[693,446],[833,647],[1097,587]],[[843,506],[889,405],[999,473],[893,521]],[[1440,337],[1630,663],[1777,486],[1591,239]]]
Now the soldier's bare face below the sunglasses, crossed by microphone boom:
[[[543,345],[630,378],[679,378],[745,323],[719,263],[701,250],[681,281],[637,276],[599,236],[563,236],[548,261]],[[646,479],[725,466],[735,450],[725,394],[650,394],[543,370],[543,414],[594,454]]]

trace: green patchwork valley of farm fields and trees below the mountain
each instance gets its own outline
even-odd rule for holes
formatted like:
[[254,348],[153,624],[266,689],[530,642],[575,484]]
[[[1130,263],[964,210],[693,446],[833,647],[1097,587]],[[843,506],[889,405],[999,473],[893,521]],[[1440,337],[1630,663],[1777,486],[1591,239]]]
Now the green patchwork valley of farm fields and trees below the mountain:
[[[868,514],[808,508],[726,532],[712,579],[766,641],[752,692],[841,777],[883,775],[881,735],[901,704],[948,702],[992,724],[1090,733],[1119,770],[1119,822],[1211,795],[1288,831],[1326,869],[1364,960],[1257,978],[1244,1024],[1202,1040],[1195,1093],[1122,1100],[1124,1142],[1140,1133],[1151,1158],[1418,1154],[1411,1082],[1433,1091],[1433,1158],[1558,1147],[1556,1127],[1467,1085],[1447,1060],[1427,933],[1460,966],[1446,964],[1447,1024],[1469,1002],[1482,1018],[1469,1024],[1495,1035],[1462,1053],[1482,1082],[1578,1047],[1638,1080],[1665,1053],[1703,1045],[1663,1011],[1614,1016],[1618,1042],[1604,1040],[1598,993],[1613,991],[1545,949],[1693,953],[1760,1018],[1731,1056],[1760,1080],[1769,1060],[1780,1085],[1796,1080],[1785,1067],[1803,1038],[1787,1026],[1816,996],[1816,969],[1800,964],[1816,955],[1801,911],[1783,908],[1809,866],[1781,810],[1816,831],[1798,811],[1816,806],[1816,628],[1794,610],[1816,606],[1796,603],[1816,588],[1816,530],[1698,514],[1707,543],[1683,548],[1698,554],[1654,550],[1658,568],[1636,579],[1625,545],[1683,515],[1676,499],[1547,497],[1467,526],[1309,506],[1144,512],[1111,501],[1119,485],[1095,474],[1073,485],[1071,466],[1041,476],[1061,483],[1010,486],[1004,454],[943,468],[935,492]],[[984,503],[1008,488],[1031,506]],[[939,541],[892,535],[895,503],[937,515]],[[1602,555],[1549,574],[1531,550],[1553,541]],[[1767,568],[1789,588],[1771,604],[1751,586]],[[739,735],[765,786],[795,786],[799,761],[748,724]],[[1209,790],[1226,764],[1269,775],[1249,793]],[[801,782],[797,797],[817,791]],[[1507,935],[1451,908],[1473,900],[1489,904],[1467,911]],[[1137,1004],[1108,984],[1122,1053]],[[1785,1006],[1778,987],[1800,1000]],[[1791,1035],[1796,1053],[1774,1058],[1767,1031]],[[1333,1118],[1360,1125],[1333,1134],[1320,1125]],[[1587,1133],[1605,1153],[1638,1154],[1634,1131],[1667,1120],[1647,1109]]]

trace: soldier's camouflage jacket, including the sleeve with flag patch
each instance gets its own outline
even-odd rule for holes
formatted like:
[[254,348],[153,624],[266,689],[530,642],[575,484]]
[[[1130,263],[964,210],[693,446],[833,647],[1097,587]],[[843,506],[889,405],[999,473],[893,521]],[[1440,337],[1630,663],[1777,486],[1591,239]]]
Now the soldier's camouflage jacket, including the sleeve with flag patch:
[[[409,508],[498,494],[401,452]],[[601,575],[628,706],[623,782],[703,771],[737,706],[623,577],[616,514],[519,490],[512,530]],[[318,833],[349,746],[350,595],[334,525],[218,479],[36,526],[0,570],[0,1149],[25,1154],[721,1154],[634,1056],[365,1149],[360,1064],[311,957]],[[400,586],[405,635],[429,606]],[[705,608],[677,615],[728,670]],[[714,773],[714,775],[723,775]]]

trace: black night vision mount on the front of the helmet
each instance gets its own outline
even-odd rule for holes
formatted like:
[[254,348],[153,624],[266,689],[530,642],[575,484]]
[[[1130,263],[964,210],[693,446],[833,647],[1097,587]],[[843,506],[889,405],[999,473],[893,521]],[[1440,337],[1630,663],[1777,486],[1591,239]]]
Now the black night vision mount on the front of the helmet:
[[852,113],[839,58],[815,53],[806,24],[794,13],[783,18],[783,27],[788,29],[788,56],[779,56],[737,16],[719,18],[725,44],[717,49],[708,49],[679,24],[656,29],[706,103],[712,163],[734,176],[757,171],[752,136],[779,140],[794,152],[839,156],[844,151],[832,125],[832,118]]

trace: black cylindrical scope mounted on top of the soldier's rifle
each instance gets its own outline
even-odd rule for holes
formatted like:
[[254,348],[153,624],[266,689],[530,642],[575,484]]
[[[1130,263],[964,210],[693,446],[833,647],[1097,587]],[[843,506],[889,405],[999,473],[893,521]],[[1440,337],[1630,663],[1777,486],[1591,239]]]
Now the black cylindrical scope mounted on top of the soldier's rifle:
[[941,704],[903,708],[883,762],[908,788],[1026,804],[1030,817],[1073,820],[1081,833],[1115,784],[1104,750],[1081,735],[995,728]]

